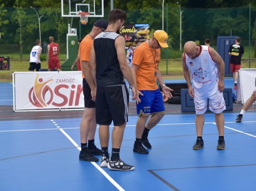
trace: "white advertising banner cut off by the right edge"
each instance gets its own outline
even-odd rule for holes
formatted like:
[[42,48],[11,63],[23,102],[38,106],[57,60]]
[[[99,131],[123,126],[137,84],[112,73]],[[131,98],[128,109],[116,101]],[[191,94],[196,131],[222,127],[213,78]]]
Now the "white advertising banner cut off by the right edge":
[[240,69],[240,84],[242,104],[251,97],[252,92],[256,88],[256,69]]

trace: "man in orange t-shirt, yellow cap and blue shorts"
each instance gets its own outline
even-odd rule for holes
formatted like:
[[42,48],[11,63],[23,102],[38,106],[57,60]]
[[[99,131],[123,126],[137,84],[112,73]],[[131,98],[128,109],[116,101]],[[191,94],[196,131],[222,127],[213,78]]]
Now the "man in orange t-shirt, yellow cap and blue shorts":
[[[160,47],[168,47],[167,38],[168,35],[165,31],[156,30],[150,40],[143,42],[134,51],[131,74],[137,84],[137,89],[143,96],[140,95],[141,103],[136,103],[139,119],[136,123],[136,141],[133,151],[140,154],[148,154],[142,144],[146,148],[152,148],[147,139],[148,132],[157,125],[166,112],[163,104],[163,95],[157,86],[157,80],[162,87],[163,93],[168,98],[172,97],[172,89],[164,84],[161,72],[158,70]],[[149,118],[149,116],[151,117]]]

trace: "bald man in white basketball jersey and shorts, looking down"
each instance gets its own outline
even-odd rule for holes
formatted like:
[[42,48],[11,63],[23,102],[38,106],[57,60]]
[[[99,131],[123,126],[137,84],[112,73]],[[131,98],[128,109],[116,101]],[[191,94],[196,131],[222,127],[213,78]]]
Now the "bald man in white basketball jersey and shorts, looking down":
[[[184,45],[183,75],[188,84],[188,93],[194,99],[196,110],[197,141],[193,149],[204,147],[202,138],[204,126],[204,113],[209,109],[215,114],[215,122],[219,131],[218,150],[225,149],[224,116],[226,109],[223,98],[225,64],[220,55],[209,46],[197,46],[193,41]],[[191,85],[193,82],[193,87]]]

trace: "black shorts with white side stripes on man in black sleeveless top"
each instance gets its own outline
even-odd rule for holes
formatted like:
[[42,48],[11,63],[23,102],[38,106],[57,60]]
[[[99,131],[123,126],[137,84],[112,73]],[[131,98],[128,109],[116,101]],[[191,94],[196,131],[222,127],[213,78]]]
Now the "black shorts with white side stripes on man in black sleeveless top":
[[126,85],[97,87],[96,123],[121,126],[128,122],[129,95]]

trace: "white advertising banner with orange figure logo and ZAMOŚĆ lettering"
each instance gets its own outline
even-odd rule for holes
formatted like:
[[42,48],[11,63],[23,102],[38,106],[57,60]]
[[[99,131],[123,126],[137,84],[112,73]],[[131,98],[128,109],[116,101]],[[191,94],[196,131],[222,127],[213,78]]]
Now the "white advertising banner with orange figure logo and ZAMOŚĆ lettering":
[[14,72],[14,111],[84,108],[81,71]]

